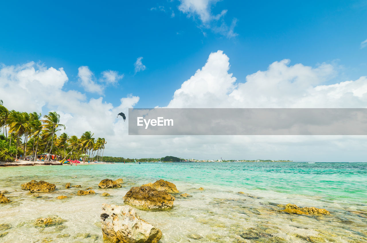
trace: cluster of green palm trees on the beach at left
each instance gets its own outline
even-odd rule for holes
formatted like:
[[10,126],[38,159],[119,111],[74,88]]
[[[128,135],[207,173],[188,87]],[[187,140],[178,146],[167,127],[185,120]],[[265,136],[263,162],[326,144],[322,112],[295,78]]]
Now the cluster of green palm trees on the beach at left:
[[[103,151],[107,143],[104,138],[93,137],[94,133],[84,132],[80,137],[69,136],[65,125],[60,123],[60,115],[50,111],[42,116],[40,113],[26,113],[8,110],[0,100],[0,161],[14,161],[35,155],[56,155],[60,161],[83,158],[103,161]],[[54,158],[54,159],[56,159]]]

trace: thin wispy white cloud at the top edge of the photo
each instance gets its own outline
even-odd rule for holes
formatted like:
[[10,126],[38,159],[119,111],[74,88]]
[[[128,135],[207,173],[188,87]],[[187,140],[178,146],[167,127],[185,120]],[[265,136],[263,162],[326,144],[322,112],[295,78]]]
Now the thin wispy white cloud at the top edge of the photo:
[[[218,0],[179,0],[178,10],[187,14],[189,18],[199,18],[201,29],[211,29],[215,33],[219,33],[228,38],[237,36],[234,28],[237,19],[234,18],[230,26],[226,24],[223,17],[228,10],[222,10],[219,14],[212,14],[211,8]],[[205,32],[203,32],[205,33]],[[205,35],[205,34],[204,34]]]

